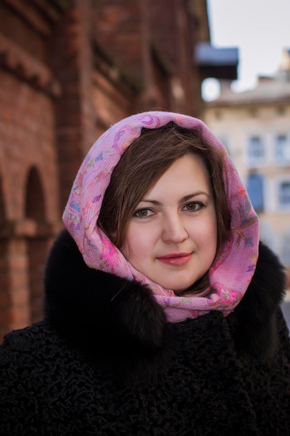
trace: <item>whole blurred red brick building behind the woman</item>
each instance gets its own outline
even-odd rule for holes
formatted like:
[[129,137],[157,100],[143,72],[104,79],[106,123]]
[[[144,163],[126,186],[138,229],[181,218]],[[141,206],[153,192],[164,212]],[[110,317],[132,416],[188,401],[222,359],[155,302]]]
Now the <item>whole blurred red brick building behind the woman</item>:
[[[206,0],[0,2],[0,341],[41,316],[47,251],[76,171],[136,111],[199,116],[215,63]],[[218,77],[234,79],[236,61]]]

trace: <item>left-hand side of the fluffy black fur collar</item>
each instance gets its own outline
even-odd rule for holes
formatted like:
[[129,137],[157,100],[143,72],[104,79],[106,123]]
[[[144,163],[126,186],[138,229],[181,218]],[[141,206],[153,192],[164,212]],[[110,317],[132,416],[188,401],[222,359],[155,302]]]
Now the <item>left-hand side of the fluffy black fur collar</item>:
[[150,289],[89,268],[65,230],[47,261],[45,316],[69,345],[104,366],[158,360],[168,348],[166,317]]

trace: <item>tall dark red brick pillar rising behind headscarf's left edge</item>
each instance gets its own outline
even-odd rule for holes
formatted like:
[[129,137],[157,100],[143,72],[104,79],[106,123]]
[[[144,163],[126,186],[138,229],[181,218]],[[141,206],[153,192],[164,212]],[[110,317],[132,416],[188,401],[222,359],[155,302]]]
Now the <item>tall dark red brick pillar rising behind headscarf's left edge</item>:
[[96,138],[92,106],[89,2],[75,1],[55,24],[48,41],[49,63],[61,84],[56,100],[56,149],[61,210],[83,159],[83,146]]

